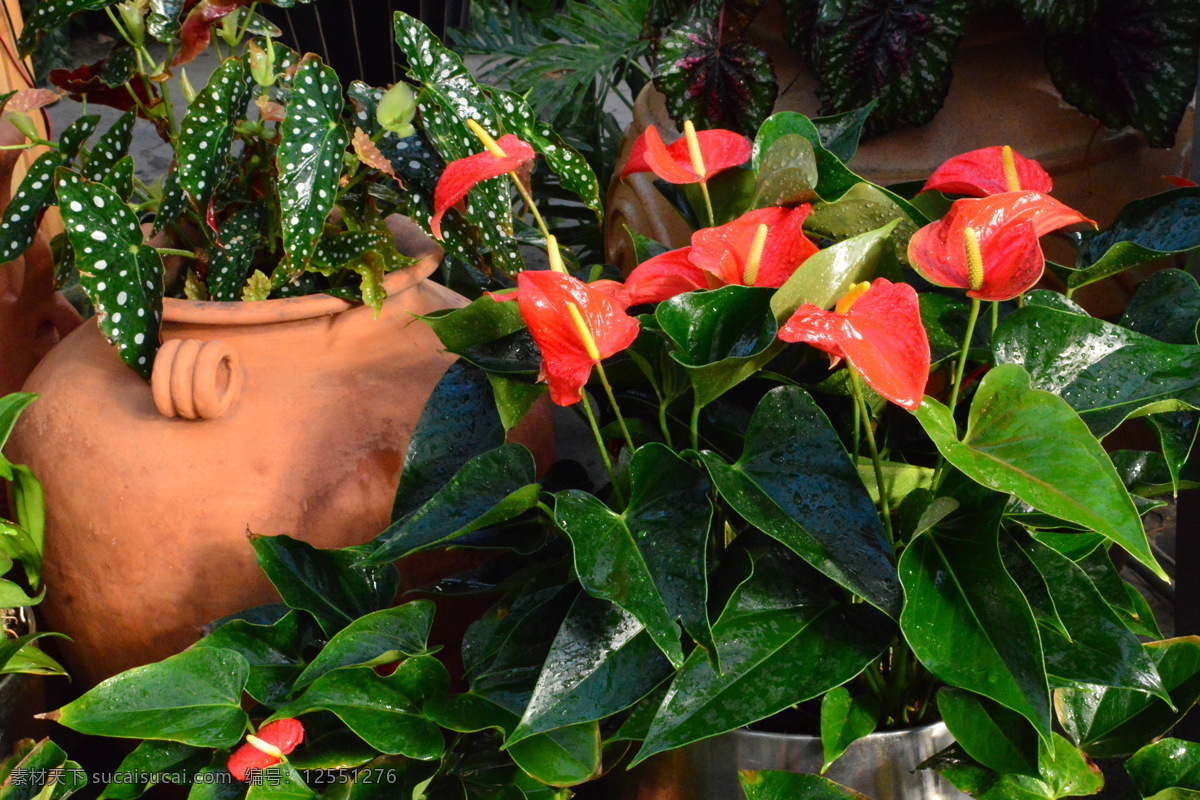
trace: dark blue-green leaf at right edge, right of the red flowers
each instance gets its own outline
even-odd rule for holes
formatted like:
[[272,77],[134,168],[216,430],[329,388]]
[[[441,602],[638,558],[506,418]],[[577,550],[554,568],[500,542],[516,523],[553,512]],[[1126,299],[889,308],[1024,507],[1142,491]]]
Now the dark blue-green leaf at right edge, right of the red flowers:
[[1133,266],[1200,248],[1200,188],[1134,200],[1104,230],[1079,237],[1079,269],[1067,277],[1076,289]]

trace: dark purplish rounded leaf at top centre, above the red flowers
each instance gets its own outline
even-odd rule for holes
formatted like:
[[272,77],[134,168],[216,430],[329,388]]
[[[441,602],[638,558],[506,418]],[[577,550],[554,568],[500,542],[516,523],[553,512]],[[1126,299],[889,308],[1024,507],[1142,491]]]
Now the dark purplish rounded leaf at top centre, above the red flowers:
[[654,85],[677,122],[749,136],[775,104],[775,72],[760,48],[722,40],[721,6],[701,0],[659,38]]

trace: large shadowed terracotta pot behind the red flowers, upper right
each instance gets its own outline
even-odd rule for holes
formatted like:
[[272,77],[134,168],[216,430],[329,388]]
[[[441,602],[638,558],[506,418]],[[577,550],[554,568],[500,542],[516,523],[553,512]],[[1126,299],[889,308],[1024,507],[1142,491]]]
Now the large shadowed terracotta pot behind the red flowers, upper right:
[[[780,4],[770,1],[748,34],[770,55],[784,88],[775,110],[817,116],[817,82],[784,42],[784,30]],[[1187,174],[1193,118],[1189,110],[1171,150],[1152,150],[1132,131],[1108,130],[1062,100],[1043,65],[1040,43],[1019,25],[998,20],[973,26],[959,47],[949,95],[934,121],[864,142],[851,167],[881,185],[925,180],[950,156],[1009,144],[1050,172],[1057,199],[1104,225],[1128,201],[1170,188],[1163,175]],[[647,85],[635,103],[618,174],[634,140],[649,125],[658,126],[668,140],[677,136],[664,97],[653,85]],[[653,182],[653,175],[631,175],[613,181],[608,193],[606,249],[610,263],[625,271],[634,265],[625,225],[670,247],[689,241],[686,223]],[[1141,277],[1134,270],[1117,281],[1086,287],[1074,299],[1098,315],[1116,313],[1124,308]]]

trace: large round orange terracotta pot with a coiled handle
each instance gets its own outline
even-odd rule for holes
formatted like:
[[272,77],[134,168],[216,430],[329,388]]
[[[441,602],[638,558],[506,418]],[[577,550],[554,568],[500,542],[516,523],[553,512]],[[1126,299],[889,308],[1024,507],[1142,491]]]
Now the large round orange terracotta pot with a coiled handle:
[[[42,398],[12,453],[46,487],[42,610],[73,639],[77,684],[277,602],[247,531],[331,548],[388,525],[413,427],[452,362],[414,314],[466,303],[425,279],[440,252],[424,252],[386,277],[378,319],[328,295],[168,299],[150,385],[94,321],[34,372],[25,389]],[[439,570],[436,555],[406,561],[404,583]]]

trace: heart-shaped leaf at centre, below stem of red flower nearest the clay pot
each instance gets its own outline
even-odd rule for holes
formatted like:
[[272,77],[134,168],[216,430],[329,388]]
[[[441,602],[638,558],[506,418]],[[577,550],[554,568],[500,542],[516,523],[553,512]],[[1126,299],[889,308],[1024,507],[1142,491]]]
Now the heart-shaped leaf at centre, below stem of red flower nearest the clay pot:
[[646,626],[676,666],[676,620],[701,642],[708,626],[706,549],[712,505],[703,473],[661,444],[638,447],[629,464],[630,501],[617,513],[577,489],[554,498],[554,522],[571,540],[580,583]]

